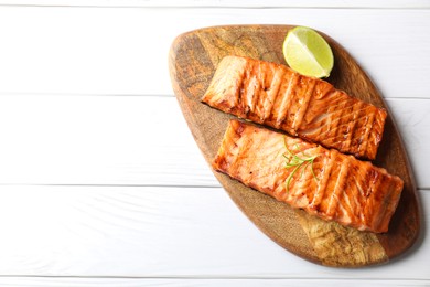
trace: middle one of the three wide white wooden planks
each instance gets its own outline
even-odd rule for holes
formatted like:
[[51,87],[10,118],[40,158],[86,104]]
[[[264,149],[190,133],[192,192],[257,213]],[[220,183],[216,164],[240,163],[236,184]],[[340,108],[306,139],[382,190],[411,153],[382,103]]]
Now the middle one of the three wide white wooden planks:
[[[430,188],[430,100],[387,104]],[[0,135],[0,183],[219,187],[172,96],[3,95]]]

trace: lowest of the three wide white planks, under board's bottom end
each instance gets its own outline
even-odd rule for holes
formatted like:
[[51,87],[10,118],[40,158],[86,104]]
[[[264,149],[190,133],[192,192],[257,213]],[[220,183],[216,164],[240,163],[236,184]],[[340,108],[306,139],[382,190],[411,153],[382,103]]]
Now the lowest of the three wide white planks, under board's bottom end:
[[221,188],[1,185],[0,228],[2,276],[430,279],[426,233],[390,264],[327,269],[276,245]]

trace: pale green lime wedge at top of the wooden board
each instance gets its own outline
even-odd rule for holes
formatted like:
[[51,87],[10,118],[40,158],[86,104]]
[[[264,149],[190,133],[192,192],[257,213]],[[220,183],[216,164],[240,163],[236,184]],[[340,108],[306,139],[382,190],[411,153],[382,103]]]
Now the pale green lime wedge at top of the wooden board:
[[295,26],[283,41],[283,56],[295,72],[313,77],[327,77],[333,68],[333,52],[314,30]]

